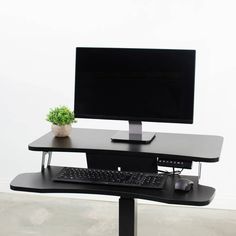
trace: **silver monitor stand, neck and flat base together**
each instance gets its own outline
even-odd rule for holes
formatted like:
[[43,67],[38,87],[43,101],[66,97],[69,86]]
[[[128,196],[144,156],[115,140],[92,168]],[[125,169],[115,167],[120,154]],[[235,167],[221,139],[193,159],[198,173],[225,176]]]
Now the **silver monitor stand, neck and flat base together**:
[[126,143],[150,143],[156,134],[153,132],[142,132],[141,121],[129,121],[129,131],[118,131],[111,137],[113,142]]

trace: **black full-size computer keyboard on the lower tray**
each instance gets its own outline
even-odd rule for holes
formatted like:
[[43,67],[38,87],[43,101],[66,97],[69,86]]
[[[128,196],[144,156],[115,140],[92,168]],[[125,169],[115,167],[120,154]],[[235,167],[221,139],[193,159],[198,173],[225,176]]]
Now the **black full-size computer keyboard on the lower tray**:
[[53,181],[163,189],[166,178],[165,174],[63,167]]

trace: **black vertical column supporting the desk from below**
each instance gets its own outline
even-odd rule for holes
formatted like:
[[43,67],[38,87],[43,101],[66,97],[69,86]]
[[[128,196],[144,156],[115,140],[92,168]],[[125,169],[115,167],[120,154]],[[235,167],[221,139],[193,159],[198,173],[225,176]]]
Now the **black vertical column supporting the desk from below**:
[[133,198],[119,199],[119,236],[137,236],[136,201]]

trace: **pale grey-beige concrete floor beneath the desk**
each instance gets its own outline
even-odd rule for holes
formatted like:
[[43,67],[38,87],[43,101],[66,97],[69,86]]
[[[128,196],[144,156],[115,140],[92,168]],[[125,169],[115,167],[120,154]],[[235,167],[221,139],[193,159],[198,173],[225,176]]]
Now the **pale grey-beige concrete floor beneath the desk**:
[[[0,193],[1,236],[118,236],[118,203]],[[236,211],[138,205],[138,236],[236,235]]]

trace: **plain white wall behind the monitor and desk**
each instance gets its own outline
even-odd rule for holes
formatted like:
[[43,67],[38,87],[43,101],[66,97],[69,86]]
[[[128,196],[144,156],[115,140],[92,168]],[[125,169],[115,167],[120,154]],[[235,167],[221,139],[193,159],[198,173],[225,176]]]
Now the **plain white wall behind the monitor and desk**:
[[[144,129],[224,136],[222,158],[203,166],[202,183],[216,187],[216,201],[233,202],[234,2],[0,0],[0,191],[8,191],[17,174],[39,170],[40,153],[27,145],[49,131],[49,108],[73,108],[76,46],[191,48],[197,50],[194,124],[144,123]],[[76,126],[127,128],[126,122],[98,120]],[[54,163],[85,166],[83,154],[55,156]]]

